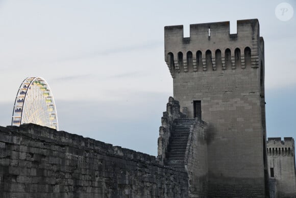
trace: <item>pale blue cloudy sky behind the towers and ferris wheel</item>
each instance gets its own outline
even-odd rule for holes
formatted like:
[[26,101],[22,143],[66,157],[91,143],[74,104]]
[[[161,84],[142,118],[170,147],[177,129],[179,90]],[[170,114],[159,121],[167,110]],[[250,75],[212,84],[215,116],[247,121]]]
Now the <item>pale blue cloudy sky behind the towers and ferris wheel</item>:
[[172,95],[163,27],[184,25],[189,36],[189,24],[227,20],[236,33],[236,20],[258,18],[267,136],[295,138],[296,20],[276,17],[282,2],[0,0],[0,125],[11,122],[21,81],[41,76],[61,130],[157,155]]

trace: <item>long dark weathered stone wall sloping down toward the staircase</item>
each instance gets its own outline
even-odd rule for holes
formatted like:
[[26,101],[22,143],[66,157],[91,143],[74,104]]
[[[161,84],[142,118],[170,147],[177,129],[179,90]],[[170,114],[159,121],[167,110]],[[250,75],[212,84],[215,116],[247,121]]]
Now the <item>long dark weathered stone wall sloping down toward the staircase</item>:
[[0,127],[0,197],[188,197],[154,156],[34,124]]

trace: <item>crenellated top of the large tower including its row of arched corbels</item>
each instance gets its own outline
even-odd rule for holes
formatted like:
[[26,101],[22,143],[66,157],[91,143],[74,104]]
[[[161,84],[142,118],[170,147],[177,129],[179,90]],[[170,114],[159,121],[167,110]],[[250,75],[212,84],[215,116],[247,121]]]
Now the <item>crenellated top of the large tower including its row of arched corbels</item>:
[[230,34],[229,21],[191,24],[190,37],[183,25],[164,27],[165,61],[172,77],[176,73],[258,68],[264,41],[258,19],[237,21],[237,33]]

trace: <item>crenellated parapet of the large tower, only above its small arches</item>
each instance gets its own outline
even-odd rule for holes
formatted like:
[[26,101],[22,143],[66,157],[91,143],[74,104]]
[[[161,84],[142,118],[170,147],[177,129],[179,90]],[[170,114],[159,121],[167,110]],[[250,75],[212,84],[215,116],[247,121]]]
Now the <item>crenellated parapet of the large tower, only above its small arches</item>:
[[183,36],[183,25],[164,27],[165,61],[169,52],[177,55],[178,52],[186,54],[191,51],[194,56],[198,50],[204,54],[207,50],[214,53],[217,49],[224,52],[227,48],[234,52],[236,48],[242,51],[249,47],[252,55],[258,55],[260,42],[262,45],[258,19],[237,20],[236,34],[230,34],[229,21],[191,24],[188,38]]

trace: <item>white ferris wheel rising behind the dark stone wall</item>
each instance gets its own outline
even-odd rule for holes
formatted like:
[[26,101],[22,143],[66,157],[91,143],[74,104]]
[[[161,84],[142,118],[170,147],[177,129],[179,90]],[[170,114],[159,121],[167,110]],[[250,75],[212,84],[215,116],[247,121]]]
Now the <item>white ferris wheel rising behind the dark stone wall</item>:
[[24,123],[59,129],[54,96],[48,83],[41,77],[24,79],[17,91],[11,125]]

